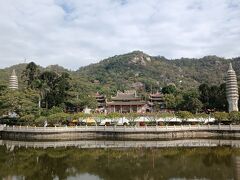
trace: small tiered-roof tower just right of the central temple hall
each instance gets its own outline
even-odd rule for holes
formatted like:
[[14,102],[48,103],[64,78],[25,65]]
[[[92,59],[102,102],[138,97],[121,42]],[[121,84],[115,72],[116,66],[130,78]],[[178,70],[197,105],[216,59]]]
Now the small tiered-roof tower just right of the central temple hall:
[[149,95],[148,105],[152,112],[161,111],[166,108],[164,96],[160,92]]

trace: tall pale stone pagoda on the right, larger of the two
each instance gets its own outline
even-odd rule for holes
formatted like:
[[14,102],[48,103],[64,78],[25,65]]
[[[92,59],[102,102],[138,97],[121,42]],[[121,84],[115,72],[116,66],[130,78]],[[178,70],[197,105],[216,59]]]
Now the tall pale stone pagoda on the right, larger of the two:
[[238,85],[236,73],[232,68],[232,64],[229,64],[226,77],[226,93],[228,101],[228,111],[238,111]]

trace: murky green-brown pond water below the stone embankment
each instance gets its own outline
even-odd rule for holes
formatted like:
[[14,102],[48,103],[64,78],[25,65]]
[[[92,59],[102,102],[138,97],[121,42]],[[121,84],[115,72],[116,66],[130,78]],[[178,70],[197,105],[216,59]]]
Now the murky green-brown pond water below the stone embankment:
[[190,141],[189,146],[211,147],[146,148],[128,144],[116,148],[123,142],[115,142],[111,148],[113,142],[105,141],[111,144],[108,148],[97,148],[95,141],[95,148],[91,148],[89,144],[94,141],[85,141],[90,148],[72,147],[74,143],[68,147],[60,142],[52,142],[55,148],[46,148],[46,142],[42,142],[42,148],[36,148],[35,143],[34,148],[33,142],[1,141],[0,179],[240,179],[237,140],[224,140],[230,142],[227,146],[222,146],[223,141],[216,144],[216,140],[199,140],[200,144],[193,141],[192,145]]

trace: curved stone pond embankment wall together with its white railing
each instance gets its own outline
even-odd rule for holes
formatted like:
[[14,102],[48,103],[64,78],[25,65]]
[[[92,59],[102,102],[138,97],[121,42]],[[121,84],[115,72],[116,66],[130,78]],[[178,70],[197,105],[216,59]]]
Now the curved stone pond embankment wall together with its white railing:
[[73,140],[73,139],[176,139],[240,137],[239,125],[181,125],[181,126],[76,126],[0,128],[3,139]]

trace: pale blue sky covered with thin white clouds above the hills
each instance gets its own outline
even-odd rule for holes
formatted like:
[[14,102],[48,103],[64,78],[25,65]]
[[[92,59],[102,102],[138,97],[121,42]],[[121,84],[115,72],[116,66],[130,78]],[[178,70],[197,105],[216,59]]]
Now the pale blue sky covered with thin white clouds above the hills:
[[240,0],[0,0],[0,68],[76,70],[135,50],[240,56]]

